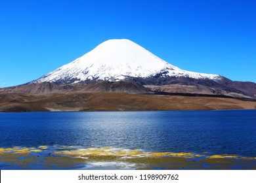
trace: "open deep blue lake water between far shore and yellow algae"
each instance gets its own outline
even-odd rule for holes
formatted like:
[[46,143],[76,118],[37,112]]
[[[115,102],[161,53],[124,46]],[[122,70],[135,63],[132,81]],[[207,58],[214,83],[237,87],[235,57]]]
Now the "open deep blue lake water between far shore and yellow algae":
[[55,144],[256,157],[256,110],[0,113],[0,147]]

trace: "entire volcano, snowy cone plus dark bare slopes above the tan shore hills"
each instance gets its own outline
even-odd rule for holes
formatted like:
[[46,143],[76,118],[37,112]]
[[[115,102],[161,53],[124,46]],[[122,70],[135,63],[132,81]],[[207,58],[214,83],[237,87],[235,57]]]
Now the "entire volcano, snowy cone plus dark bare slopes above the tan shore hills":
[[[125,83],[112,83],[118,81],[125,81]],[[256,84],[253,82],[234,82],[220,75],[184,71],[127,39],[102,42],[81,58],[37,80],[22,86],[1,89],[0,92],[148,93],[146,88],[135,86],[129,83],[130,81],[144,86],[149,85],[148,88],[153,92],[169,91],[256,98]]]

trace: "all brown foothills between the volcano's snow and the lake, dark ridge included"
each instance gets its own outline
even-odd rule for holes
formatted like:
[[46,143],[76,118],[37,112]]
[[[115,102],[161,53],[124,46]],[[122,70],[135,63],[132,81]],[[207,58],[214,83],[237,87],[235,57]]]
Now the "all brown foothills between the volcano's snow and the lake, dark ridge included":
[[[81,110],[254,109],[255,99],[211,92],[204,86],[142,86],[135,82],[56,84],[42,82],[0,89],[1,112]],[[184,93],[184,91],[186,93]],[[201,93],[198,93],[201,91]],[[182,93],[183,92],[183,93]],[[197,92],[197,93],[193,93]]]

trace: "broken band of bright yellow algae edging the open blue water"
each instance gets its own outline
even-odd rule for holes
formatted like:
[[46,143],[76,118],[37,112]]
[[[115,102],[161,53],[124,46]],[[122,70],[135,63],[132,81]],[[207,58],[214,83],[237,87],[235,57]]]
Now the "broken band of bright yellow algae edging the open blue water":
[[[63,148],[73,148],[72,150],[61,150]],[[30,152],[43,152],[43,150],[49,148],[49,146],[39,146],[38,148],[26,148],[20,146],[14,146],[13,148],[0,148],[0,154],[12,152],[13,154],[29,154]],[[194,154],[189,152],[143,152],[140,149],[125,149],[125,148],[112,148],[112,147],[100,147],[100,148],[86,148],[86,149],[75,149],[74,146],[55,146],[56,151],[53,154],[59,156],[112,156],[113,158],[198,158],[205,157],[208,159],[220,159],[220,158],[240,158],[240,159],[256,159],[255,157],[240,157],[236,155],[211,155],[205,156],[205,154]]]

